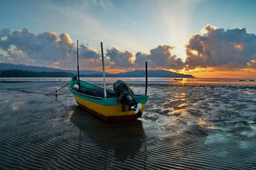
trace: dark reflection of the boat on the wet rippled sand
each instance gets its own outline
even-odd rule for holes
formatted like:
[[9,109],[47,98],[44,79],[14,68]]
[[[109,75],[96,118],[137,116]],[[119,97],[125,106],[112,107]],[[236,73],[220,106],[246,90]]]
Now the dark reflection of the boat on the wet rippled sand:
[[[92,144],[92,147],[99,146],[102,151],[108,150],[108,157],[110,153],[120,161],[125,161],[128,157],[133,158],[145,140],[140,120],[109,124],[77,106],[70,117],[70,122],[79,128],[81,141],[86,140],[88,145]],[[99,148],[94,150],[95,155]]]

